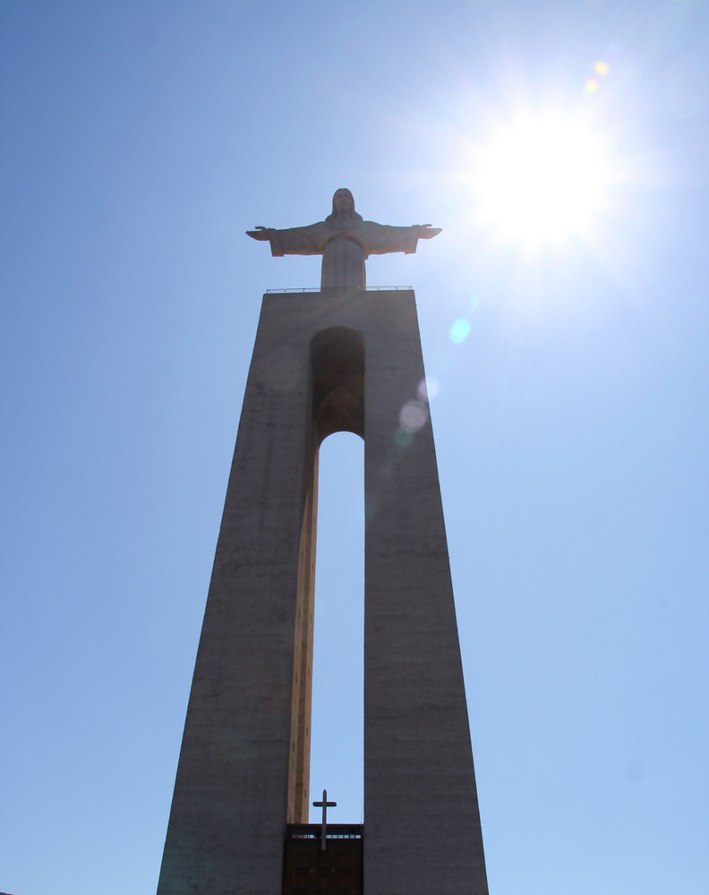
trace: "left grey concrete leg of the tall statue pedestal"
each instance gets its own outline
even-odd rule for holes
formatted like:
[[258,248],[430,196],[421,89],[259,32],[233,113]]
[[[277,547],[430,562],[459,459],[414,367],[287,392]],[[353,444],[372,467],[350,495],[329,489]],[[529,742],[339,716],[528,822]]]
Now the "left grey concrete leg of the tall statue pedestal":
[[159,895],[280,893],[299,554],[312,467],[310,331],[287,312],[294,310],[287,299],[267,296],[261,312]]

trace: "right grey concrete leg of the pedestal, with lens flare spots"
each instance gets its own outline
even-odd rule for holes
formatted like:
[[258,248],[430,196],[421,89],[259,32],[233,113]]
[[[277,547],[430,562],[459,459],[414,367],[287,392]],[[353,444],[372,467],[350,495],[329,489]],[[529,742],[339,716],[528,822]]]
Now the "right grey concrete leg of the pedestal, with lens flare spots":
[[385,308],[366,339],[365,892],[486,895],[414,294]]

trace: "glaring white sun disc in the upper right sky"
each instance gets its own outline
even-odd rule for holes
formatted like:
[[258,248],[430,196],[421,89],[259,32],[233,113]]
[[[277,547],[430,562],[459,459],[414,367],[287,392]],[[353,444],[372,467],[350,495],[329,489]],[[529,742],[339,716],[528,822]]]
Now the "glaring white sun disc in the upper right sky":
[[606,206],[611,164],[591,123],[525,112],[496,124],[474,150],[483,226],[525,250],[590,237]]

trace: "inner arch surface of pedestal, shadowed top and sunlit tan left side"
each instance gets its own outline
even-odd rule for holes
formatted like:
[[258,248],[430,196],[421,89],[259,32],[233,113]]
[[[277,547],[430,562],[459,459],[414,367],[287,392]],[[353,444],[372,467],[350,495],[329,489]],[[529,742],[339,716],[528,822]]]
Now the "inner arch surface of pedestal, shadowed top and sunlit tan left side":
[[[364,340],[349,328],[325,329],[311,342],[312,430],[303,482],[298,563],[287,823],[307,823],[310,798],[312,651],[320,444],[334,432],[364,438]],[[363,563],[362,563],[363,565]],[[360,673],[360,679],[362,674]],[[360,774],[361,777],[361,774]]]

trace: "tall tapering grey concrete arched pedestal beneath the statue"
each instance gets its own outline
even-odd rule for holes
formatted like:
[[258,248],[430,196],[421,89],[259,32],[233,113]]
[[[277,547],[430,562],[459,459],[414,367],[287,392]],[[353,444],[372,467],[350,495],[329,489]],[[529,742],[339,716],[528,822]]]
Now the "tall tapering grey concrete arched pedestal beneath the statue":
[[263,296],[158,895],[355,891],[284,883],[310,799],[318,449],[336,431],[364,439],[359,891],[487,895],[423,382],[412,290]]

